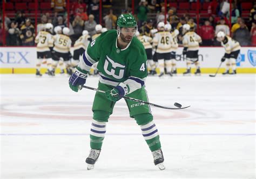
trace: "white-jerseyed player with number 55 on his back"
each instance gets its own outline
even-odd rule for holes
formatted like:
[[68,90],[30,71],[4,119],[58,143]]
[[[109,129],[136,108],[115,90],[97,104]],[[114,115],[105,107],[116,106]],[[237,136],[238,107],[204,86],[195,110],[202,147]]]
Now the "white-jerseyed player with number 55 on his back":
[[54,55],[52,55],[53,63],[53,71],[55,71],[58,62],[60,58],[64,60],[65,68],[67,70],[68,74],[72,74],[71,70],[71,53],[70,53],[70,47],[71,47],[71,39],[69,38],[69,28],[64,27],[62,32],[63,34],[56,34],[53,35],[53,41],[54,41],[54,47],[53,51],[55,51]]

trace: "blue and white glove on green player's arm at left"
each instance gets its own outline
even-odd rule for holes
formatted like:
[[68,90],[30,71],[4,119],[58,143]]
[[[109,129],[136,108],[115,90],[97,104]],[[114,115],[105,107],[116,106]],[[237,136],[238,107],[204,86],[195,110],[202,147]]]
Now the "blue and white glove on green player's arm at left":
[[84,85],[87,78],[87,71],[82,70],[79,67],[76,68],[75,72],[69,78],[69,87],[73,91],[78,91],[79,85]]

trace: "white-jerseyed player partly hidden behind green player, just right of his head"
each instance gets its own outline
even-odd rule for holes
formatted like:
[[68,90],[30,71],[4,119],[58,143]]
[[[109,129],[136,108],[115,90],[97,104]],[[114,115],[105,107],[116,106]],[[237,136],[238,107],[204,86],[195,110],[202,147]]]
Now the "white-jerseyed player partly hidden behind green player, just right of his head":
[[151,69],[154,68],[153,55],[152,55],[152,38],[147,35],[140,35],[139,32],[136,32],[136,37],[142,42],[147,55],[147,66]]

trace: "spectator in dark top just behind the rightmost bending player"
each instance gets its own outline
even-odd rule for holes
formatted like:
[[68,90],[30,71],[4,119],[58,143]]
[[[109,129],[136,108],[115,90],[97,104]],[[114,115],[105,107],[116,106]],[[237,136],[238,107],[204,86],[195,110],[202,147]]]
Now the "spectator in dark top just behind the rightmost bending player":
[[240,27],[234,32],[233,39],[237,40],[241,46],[251,44],[251,34],[243,19],[240,21]]

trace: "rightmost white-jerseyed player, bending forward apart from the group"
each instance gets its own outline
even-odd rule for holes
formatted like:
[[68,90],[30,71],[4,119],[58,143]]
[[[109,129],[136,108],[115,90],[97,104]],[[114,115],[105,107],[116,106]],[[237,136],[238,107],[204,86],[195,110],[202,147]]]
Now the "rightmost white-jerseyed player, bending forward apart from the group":
[[[224,62],[225,60],[227,60],[226,71],[223,73],[223,75],[237,74],[236,60],[238,58],[238,55],[240,53],[240,48],[241,48],[239,42],[225,35],[223,31],[219,31],[217,33],[217,40],[220,41],[221,46],[225,48],[225,55],[223,56],[223,58],[221,58],[221,62]],[[232,72],[228,73],[230,70],[230,67],[232,69]]]

